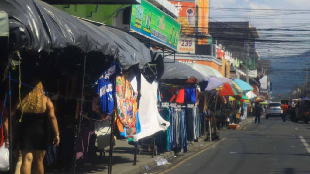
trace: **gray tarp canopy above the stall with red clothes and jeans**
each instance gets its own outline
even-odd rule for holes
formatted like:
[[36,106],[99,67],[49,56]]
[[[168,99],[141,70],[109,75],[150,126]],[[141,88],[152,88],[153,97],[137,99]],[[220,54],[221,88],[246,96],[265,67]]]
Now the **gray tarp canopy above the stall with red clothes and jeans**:
[[[171,60],[171,59],[170,59]],[[195,78],[198,82],[205,81],[205,77],[198,71],[194,70],[188,65],[180,62],[165,62],[165,71],[162,75],[163,80],[167,79],[181,79],[188,80],[189,78]]]

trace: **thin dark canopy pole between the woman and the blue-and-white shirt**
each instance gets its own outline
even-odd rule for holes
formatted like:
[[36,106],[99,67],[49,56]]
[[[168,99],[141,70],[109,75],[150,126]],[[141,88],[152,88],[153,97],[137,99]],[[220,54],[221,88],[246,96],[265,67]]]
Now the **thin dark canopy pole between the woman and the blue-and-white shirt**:
[[81,103],[80,103],[80,111],[78,114],[78,126],[75,133],[75,142],[74,142],[74,155],[73,155],[73,164],[72,164],[72,171],[71,173],[75,174],[76,163],[77,163],[77,151],[78,151],[78,140],[80,136],[81,130],[81,121],[83,116],[83,92],[84,92],[84,81],[85,81],[85,68],[86,68],[86,55],[84,56],[84,69],[83,69],[83,81],[82,81],[82,91],[81,91]]

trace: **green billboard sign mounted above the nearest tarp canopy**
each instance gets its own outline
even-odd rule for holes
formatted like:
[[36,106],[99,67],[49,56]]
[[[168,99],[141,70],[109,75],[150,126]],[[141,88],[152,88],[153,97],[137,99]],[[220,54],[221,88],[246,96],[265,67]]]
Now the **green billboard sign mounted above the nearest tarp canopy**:
[[143,36],[176,50],[180,28],[179,22],[146,0],[132,5],[130,29]]

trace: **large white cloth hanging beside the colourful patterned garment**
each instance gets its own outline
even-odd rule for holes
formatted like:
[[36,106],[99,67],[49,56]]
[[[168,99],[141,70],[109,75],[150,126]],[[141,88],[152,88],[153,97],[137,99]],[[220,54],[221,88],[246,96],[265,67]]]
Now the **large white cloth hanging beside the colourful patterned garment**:
[[141,75],[141,98],[139,104],[139,119],[141,132],[134,135],[134,141],[153,135],[154,133],[166,130],[170,123],[165,121],[157,109],[157,82],[148,83]]

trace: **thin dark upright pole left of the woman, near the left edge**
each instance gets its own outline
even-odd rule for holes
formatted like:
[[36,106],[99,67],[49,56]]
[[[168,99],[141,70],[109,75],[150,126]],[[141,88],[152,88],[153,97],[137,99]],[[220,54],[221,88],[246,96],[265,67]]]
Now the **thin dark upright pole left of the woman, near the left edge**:
[[9,155],[10,155],[10,173],[13,174],[13,155],[12,155],[12,108],[11,108],[11,71],[9,70]]

